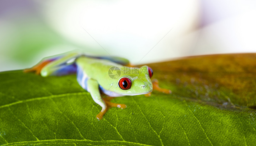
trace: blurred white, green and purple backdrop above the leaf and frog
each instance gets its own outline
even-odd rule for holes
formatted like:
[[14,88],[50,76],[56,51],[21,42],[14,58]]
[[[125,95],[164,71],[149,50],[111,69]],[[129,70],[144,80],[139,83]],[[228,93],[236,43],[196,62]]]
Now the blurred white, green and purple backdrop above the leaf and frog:
[[0,71],[80,49],[145,64],[255,53],[253,0],[1,0]]

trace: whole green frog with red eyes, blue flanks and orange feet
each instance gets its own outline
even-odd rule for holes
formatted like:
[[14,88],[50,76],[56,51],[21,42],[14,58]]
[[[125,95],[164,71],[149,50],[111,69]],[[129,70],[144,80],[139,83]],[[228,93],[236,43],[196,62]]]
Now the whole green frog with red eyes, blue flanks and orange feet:
[[[146,94],[152,90],[171,93],[151,81],[153,70],[148,66],[131,67],[129,61],[119,57],[95,57],[78,52],[64,53],[44,58],[37,65],[24,72],[35,72],[42,77],[77,74],[79,85],[90,92],[93,100],[102,107],[96,116],[98,120],[110,107],[126,108],[125,104],[111,103],[113,97]],[[101,93],[107,98],[102,98]]]

